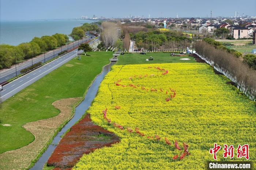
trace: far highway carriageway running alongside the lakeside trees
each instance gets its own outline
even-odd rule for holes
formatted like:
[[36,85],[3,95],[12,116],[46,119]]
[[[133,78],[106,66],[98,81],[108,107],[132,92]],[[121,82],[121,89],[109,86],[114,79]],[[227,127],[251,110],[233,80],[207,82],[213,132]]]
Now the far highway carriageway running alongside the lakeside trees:
[[[93,38],[95,37],[94,35],[89,34],[89,32],[86,32],[86,35],[89,36],[87,39],[78,40],[78,41],[75,41],[74,43],[70,43],[68,46],[67,45],[63,46],[62,51],[71,50],[74,47],[79,46],[81,43],[86,42],[86,40],[91,39],[91,37],[93,37]],[[41,57],[34,58],[33,64],[38,63],[38,62],[44,63],[44,61],[47,62],[48,60],[53,58],[53,55],[54,55],[54,57],[56,57],[60,52],[61,52],[61,49],[54,50],[54,52],[45,53],[45,57],[43,54],[43,55],[41,55]],[[20,70],[25,69],[26,67],[29,67],[31,65],[32,65],[32,59],[17,65],[17,75],[20,74]],[[6,72],[0,73],[0,84],[1,84],[1,82],[5,82],[15,76],[16,76],[16,71],[15,71],[15,66],[14,66],[11,69],[8,69]]]

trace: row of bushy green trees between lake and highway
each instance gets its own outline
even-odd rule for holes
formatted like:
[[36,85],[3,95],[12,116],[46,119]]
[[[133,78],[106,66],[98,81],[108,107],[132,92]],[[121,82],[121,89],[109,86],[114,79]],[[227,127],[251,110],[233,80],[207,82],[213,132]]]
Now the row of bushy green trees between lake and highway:
[[21,43],[18,46],[0,45],[0,69],[8,68],[16,61],[29,59],[45,51],[52,50],[64,45],[68,36],[64,34],[54,34],[52,36],[34,37],[30,42]]

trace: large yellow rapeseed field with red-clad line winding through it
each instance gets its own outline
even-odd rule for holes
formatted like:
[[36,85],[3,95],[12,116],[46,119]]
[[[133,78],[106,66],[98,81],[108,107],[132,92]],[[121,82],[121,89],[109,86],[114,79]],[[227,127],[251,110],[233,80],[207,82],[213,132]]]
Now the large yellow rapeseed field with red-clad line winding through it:
[[[121,142],[83,155],[74,169],[205,169],[214,143],[217,161],[246,161],[238,144],[249,144],[255,161],[255,103],[227,81],[205,63],[113,66],[88,112]],[[223,158],[224,144],[233,159]]]

